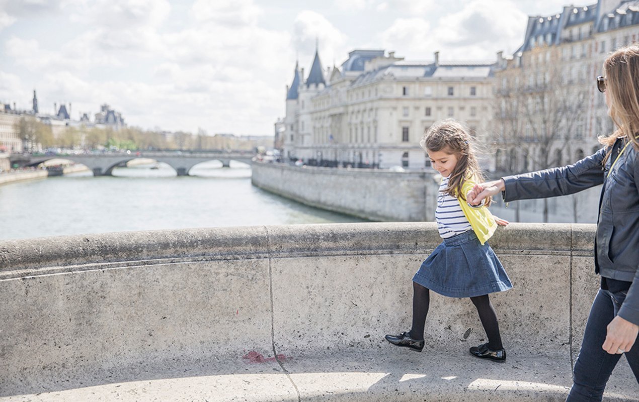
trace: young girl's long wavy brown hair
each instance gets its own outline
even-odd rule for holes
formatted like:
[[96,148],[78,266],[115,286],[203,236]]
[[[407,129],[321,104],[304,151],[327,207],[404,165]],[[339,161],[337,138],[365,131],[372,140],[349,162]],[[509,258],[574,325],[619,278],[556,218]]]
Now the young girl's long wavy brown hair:
[[[475,156],[474,142],[475,139],[468,130],[455,119],[445,119],[433,124],[419,142],[424,151],[444,151],[457,156],[457,165],[450,173],[448,187],[444,191],[451,197],[461,197],[466,200],[461,186],[467,179],[477,182],[486,181]],[[492,198],[489,197],[486,206],[489,206],[491,202]]]

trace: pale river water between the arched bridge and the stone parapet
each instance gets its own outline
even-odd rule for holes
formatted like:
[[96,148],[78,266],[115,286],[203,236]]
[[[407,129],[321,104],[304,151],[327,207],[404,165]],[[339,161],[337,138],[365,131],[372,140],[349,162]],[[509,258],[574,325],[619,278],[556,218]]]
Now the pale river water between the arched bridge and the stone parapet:
[[0,186],[0,239],[173,228],[359,222],[273,195],[240,163],[197,165],[176,177],[160,164]]

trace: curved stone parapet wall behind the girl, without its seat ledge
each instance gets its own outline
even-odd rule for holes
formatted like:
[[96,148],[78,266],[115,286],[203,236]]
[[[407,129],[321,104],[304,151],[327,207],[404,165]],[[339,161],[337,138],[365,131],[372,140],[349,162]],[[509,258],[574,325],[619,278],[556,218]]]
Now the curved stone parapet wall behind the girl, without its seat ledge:
[[[532,348],[562,367],[562,383],[597,289],[593,239],[594,225],[511,224],[491,240],[514,283],[491,296],[511,359]],[[249,352],[296,362],[375,355],[385,333],[410,328],[412,274],[439,242],[434,223],[2,241],[0,397],[187,376],[183,368],[222,361],[215,372],[234,374]],[[426,332],[429,348],[444,351],[485,337],[468,300],[435,294]],[[301,400],[295,389],[291,400]]]

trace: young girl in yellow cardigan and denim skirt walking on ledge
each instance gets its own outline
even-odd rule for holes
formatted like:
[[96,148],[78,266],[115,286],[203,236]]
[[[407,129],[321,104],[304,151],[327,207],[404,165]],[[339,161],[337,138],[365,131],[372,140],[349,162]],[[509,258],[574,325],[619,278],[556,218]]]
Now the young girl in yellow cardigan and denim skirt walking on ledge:
[[484,181],[471,143],[468,132],[453,119],[431,126],[420,141],[433,168],[442,174],[435,220],[443,242],[413,277],[412,329],[385,338],[393,345],[421,352],[430,290],[449,297],[470,297],[488,336],[488,343],[470,348],[470,354],[503,362],[506,352],[488,294],[508,290],[512,285],[486,241],[497,225],[508,222],[491,215],[490,198],[478,207],[466,202],[465,195],[473,185]]

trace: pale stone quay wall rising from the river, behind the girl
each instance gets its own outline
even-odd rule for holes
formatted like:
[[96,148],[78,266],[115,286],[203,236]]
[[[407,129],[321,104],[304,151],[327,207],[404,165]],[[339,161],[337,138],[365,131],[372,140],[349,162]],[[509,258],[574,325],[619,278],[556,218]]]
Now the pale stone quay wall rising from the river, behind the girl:
[[[252,181],[259,188],[302,204],[373,221],[433,221],[439,187],[434,171],[389,172],[376,169],[292,167],[254,163]],[[498,178],[496,176],[495,178]],[[601,187],[547,200],[505,205],[495,197],[493,214],[512,222],[596,223]]]

